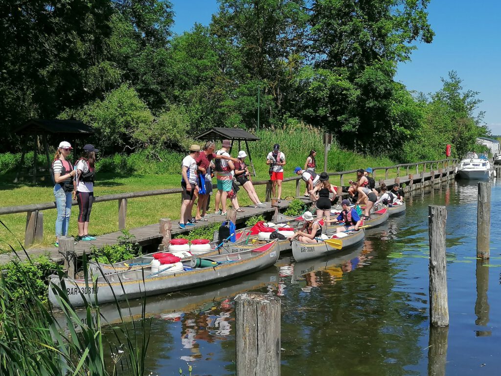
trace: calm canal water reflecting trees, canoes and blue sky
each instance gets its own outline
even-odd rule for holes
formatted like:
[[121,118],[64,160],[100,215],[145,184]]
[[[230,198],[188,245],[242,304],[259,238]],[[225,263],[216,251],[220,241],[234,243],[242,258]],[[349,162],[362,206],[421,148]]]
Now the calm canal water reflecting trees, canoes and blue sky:
[[[148,300],[147,367],[154,374],[234,374],[234,306],[243,291],[282,299],[282,375],[501,374],[501,181],[492,187],[491,259],[475,259],[476,184],[453,182],[407,201],[407,212],[367,232],[363,246],[221,284]],[[429,347],[430,204],[447,206],[450,326]],[[135,309],[138,309],[136,307]],[[104,312],[106,315],[106,312]],[[109,313],[113,318],[113,314]],[[434,350],[436,349],[436,350]]]

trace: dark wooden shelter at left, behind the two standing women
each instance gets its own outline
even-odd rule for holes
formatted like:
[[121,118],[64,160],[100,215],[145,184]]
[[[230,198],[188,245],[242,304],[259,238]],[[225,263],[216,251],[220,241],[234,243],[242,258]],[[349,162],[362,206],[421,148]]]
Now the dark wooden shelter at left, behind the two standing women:
[[[24,138],[23,150],[21,154],[21,162],[16,172],[15,182],[18,181],[22,166],[25,160],[25,154],[28,149],[28,143],[30,136],[35,138],[35,155],[33,161],[33,182],[37,180],[37,154],[39,151],[39,145],[43,144],[45,154],[47,157],[47,171],[52,176],[52,160],[49,155],[49,147],[47,144],[47,135],[57,136],[60,141],[69,141],[73,149],[77,149],[77,140],[94,134],[94,130],[89,126],[84,124],[79,120],[44,120],[44,119],[31,119],[25,124],[17,128],[14,133],[19,134]],[[58,141],[59,144],[59,141]]]

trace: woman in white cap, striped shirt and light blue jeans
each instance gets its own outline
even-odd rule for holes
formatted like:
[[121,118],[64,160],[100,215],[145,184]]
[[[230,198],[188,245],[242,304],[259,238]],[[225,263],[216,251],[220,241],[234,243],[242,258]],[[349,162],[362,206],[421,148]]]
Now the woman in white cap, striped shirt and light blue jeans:
[[77,173],[73,169],[73,164],[68,160],[71,153],[70,143],[63,141],[59,144],[54,161],[52,162],[52,171],[54,177],[54,197],[56,198],[56,208],[58,217],[56,218],[56,243],[59,247],[59,238],[68,235],[70,226],[71,204],[75,199],[75,184],[73,176]]

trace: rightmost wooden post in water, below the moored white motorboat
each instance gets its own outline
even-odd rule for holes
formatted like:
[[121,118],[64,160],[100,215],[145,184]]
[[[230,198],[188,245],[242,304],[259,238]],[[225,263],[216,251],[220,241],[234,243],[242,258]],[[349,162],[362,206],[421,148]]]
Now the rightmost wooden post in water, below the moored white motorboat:
[[478,209],[476,212],[476,257],[489,258],[490,243],[490,184],[478,182]]

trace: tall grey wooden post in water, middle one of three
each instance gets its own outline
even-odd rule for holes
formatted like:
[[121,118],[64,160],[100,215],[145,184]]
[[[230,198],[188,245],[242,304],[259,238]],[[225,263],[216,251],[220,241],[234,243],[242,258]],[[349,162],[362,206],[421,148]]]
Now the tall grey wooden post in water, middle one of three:
[[433,326],[449,325],[447,305],[447,263],[445,255],[445,224],[447,210],[444,206],[428,206],[428,237],[430,246],[430,322]]

